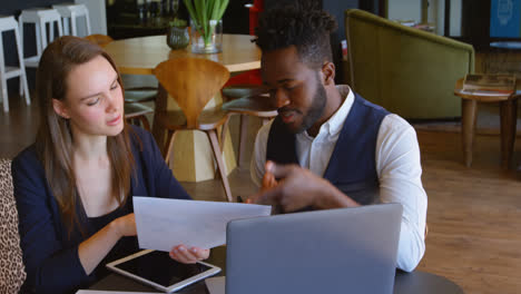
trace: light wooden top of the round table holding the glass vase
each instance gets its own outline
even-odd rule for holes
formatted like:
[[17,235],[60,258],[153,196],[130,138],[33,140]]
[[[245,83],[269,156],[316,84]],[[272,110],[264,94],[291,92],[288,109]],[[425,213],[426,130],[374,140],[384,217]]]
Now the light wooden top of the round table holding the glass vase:
[[149,36],[112,41],[105,50],[114,58],[121,74],[153,75],[160,62],[179,57],[207,58],[223,63],[229,71],[260,68],[260,50],[252,42],[249,35],[223,35],[223,52],[196,55],[188,46],[170,50],[166,36]]

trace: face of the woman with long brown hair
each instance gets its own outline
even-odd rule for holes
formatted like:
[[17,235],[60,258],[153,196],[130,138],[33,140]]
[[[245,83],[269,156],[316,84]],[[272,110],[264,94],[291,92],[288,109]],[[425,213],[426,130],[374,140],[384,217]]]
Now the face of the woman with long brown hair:
[[76,66],[67,77],[62,101],[52,99],[55,111],[70,120],[72,133],[116,136],[124,129],[124,96],[118,74],[98,56]]

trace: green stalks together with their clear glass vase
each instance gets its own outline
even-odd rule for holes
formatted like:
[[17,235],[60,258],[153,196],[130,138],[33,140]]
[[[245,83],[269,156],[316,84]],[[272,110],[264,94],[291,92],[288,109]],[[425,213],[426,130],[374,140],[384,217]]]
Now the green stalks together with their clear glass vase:
[[216,53],[222,51],[223,14],[229,0],[184,0],[190,14],[191,51]]

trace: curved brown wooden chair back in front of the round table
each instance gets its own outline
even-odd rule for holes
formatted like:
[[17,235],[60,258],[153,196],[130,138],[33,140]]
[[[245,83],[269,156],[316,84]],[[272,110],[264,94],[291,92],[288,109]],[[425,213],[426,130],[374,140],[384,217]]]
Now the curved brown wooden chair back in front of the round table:
[[204,58],[175,58],[154,69],[159,84],[185,114],[187,128],[197,128],[206,104],[229,78],[223,65]]

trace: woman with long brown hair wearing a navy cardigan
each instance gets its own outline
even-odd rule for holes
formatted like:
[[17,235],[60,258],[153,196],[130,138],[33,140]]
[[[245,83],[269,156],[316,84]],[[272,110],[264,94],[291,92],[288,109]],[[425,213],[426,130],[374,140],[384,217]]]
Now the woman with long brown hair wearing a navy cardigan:
[[[70,36],[53,41],[36,90],[37,139],[12,164],[24,288],[68,293],[97,281],[108,261],[138,251],[132,195],[190,197],[151,135],[126,124],[121,80],[100,47]],[[170,252],[183,263],[208,254],[183,245]]]

